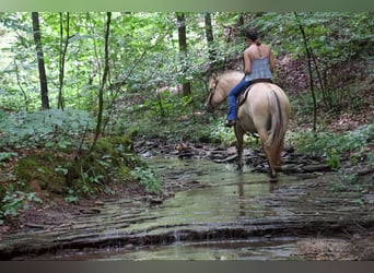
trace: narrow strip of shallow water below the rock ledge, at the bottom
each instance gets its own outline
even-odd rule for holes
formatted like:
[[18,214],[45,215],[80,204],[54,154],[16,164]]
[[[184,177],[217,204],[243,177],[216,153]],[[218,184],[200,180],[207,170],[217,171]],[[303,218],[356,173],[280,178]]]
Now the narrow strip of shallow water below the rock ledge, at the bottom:
[[[201,242],[175,242],[167,246],[152,246],[136,251],[113,249],[93,251],[91,259],[101,261],[119,260],[297,260],[294,238],[279,239],[236,239]],[[84,257],[84,256],[82,256]],[[98,258],[101,257],[101,258]]]

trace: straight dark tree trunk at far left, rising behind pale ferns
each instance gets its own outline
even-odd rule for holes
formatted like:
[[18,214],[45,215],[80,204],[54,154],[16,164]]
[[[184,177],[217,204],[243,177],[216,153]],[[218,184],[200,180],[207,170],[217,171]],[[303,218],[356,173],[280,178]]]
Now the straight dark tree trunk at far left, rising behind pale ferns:
[[39,69],[42,109],[46,110],[46,109],[49,109],[49,99],[48,99],[48,84],[47,84],[46,68],[44,63],[44,55],[43,55],[43,47],[42,47],[39,13],[32,12],[32,19],[33,19],[33,33],[34,33],[35,47],[36,47],[37,66]]

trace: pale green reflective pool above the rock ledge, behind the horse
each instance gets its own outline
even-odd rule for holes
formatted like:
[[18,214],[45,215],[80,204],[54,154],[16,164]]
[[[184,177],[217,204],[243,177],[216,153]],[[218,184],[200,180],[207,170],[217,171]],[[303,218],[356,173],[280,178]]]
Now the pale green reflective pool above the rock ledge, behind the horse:
[[176,193],[175,198],[151,211],[152,215],[156,215],[156,221],[133,225],[133,228],[150,224],[214,225],[276,215],[273,211],[256,202],[257,197],[268,194],[274,188],[269,185],[266,174],[245,170],[243,175],[238,175],[234,165],[209,161],[151,158],[149,164],[157,165],[159,171],[165,177],[172,175],[175,180],[194,180],[209,187]]

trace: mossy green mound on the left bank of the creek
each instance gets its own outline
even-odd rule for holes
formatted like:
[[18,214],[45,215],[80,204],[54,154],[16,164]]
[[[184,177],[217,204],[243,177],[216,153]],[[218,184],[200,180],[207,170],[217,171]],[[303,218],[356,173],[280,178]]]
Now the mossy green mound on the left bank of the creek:
[[114,181],[132,180],[131,169],[144,166],[133,153],[129,136],[116,135],[98,139],[95,150],[71,159],[56,151],[40,151],[21,158],[15,165],[15,175],[24,186],[16,190],[46,190],[55,193],[92,194]]

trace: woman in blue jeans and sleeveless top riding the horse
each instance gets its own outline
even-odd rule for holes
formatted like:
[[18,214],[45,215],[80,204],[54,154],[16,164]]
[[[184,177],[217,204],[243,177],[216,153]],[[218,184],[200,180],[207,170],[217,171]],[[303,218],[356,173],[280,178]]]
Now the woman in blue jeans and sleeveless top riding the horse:
[[236,123],[236,98],[250,84],[257,81],[271,82],[271,71],[274,68],[274,57],[269,46],[258,39],[257,31],[249,28],[245,35],[247,48],[244,50],[244,73],[243,80],[229,92],[227,120],[224,126],[232,127]]

